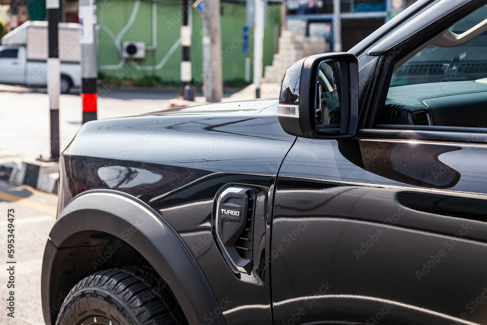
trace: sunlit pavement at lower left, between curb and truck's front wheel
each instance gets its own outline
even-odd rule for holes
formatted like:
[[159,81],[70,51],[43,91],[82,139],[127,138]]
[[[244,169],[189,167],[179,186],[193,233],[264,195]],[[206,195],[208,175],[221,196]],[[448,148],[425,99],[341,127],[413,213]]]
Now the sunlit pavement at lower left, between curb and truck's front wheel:
[[[28,186],[11,187],[0,181],[0,324],[43,325],[40,300],[42,256],[49,231],[56,220],[57,197]],[[13,228],[9,228],[8,211],[14,210]],[[11,218],[11,217],[10,217]],[[9,232],[9,229],[14,229]],[[14,257],[7,252],[7,236],[14,234]],[[9,263],[7,262],[16,262]],[[14,280],[9,284],[14,268]],[[8,288],[8,285],[14,285]],[[7,316],[10,291],[14,291],[14,316]]]

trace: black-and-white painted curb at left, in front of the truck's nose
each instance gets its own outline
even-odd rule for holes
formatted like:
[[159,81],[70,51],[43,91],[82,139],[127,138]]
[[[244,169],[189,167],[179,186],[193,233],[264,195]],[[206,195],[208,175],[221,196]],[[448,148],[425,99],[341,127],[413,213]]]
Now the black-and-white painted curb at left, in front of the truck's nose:
[[29,185],[32,188],[57,194],[59,163],[43,161],[22,161],[21,158],[0,160],[0,180],[13,186]]

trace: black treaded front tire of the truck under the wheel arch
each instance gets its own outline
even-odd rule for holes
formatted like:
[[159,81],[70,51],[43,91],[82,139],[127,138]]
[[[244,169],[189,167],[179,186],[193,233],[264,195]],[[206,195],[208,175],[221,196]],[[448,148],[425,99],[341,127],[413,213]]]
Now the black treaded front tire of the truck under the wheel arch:
[[56,325],[81,324],[183,325],[187,321],[166,282],[152,268],[136,266],[96,272],[71,289]]

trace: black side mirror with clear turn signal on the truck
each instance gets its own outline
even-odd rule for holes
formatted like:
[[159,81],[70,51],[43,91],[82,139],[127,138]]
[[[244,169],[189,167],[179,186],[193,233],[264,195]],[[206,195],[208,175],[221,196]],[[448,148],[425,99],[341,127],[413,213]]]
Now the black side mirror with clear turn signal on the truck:
[[277,114],[288,134],[336,139],[355,135],[357,58],[350,53],[305,57],[286,70]]

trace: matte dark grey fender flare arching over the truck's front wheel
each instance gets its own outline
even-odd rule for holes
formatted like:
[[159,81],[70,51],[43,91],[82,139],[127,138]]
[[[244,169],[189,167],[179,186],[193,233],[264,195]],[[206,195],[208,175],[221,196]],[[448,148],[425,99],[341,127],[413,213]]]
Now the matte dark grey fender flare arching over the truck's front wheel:
[[[56,254],[68,247],[66,240],[86,230],[103,231],[120,237],[133,226],[137,230],[124,236],[169,284],[189,324],[204,324],[207,315],[225,324],[220,307],[206,277],[186,243],[175,229],[149,205],[129,194],[113,190],[85,191],[62,210],[50,234],[42,263],[42,308],[46,324],[56,301],[51,275]],[[126,233],[126,232],[125,232]],[[128,237],[128,238],[127,238]],[[57,312],[57,311],[55,311]]]

